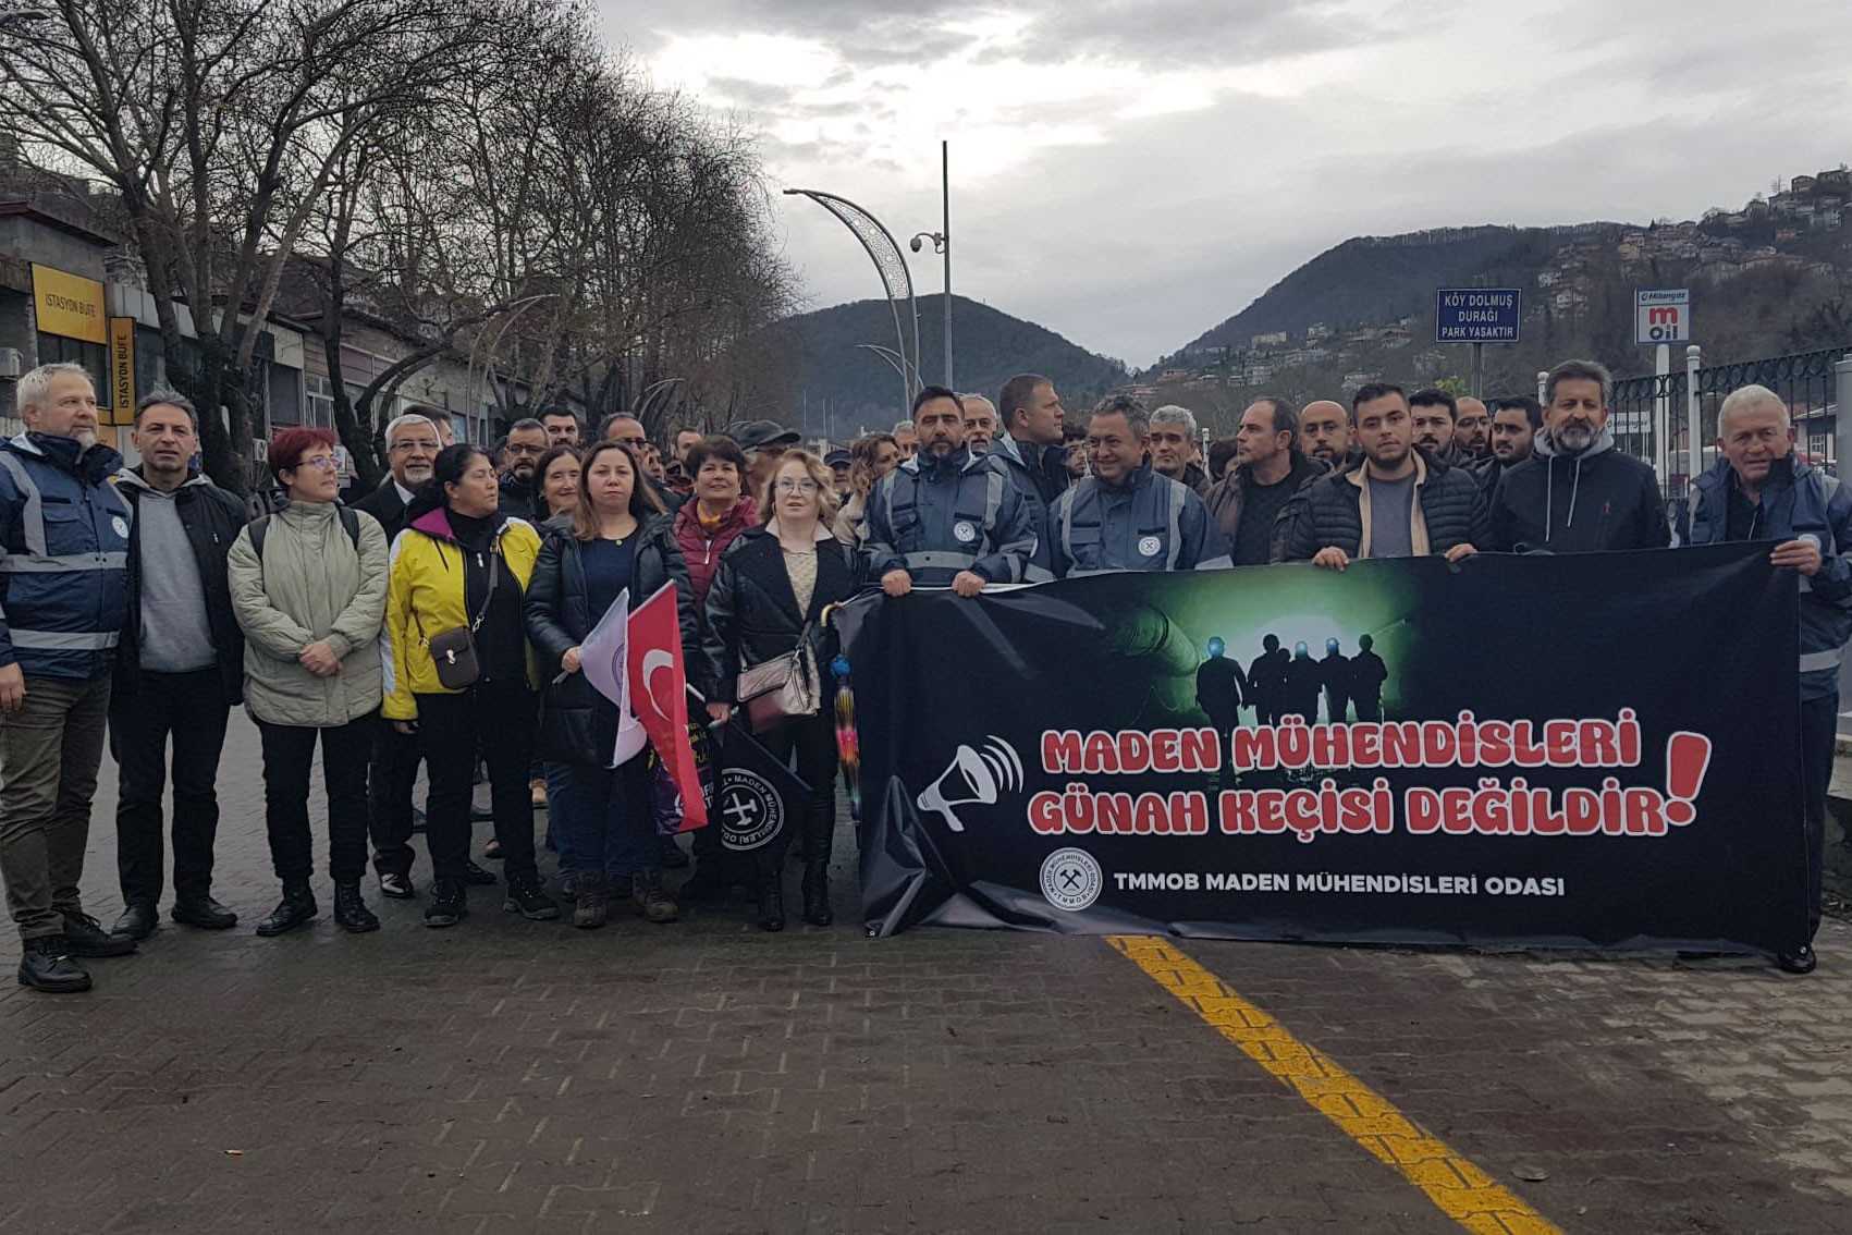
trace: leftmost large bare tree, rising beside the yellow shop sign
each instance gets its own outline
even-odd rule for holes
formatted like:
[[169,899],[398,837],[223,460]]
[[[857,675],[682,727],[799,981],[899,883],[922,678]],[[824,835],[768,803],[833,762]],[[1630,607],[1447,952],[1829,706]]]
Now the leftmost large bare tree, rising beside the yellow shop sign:
[[[56,0],[0,57],[0,131],[120,198],[207,472],[244,493],[261,322],[330,183],[469,72],[498,22],[439,0]],[[194,339],[181,313],[191,315]]]

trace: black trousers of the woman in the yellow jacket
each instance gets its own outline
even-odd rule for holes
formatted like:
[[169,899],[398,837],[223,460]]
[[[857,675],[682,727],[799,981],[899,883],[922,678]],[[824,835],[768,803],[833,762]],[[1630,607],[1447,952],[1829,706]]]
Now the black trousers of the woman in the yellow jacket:
[[489,765],[494,839],[509,881],[537,879],[533,863],[533,692],[526,681],[483,681],[457,694],[419,694],[419,737],[432,794],[424,842],[439,879],[461,879],[469,863],[469,802],[476,752]]

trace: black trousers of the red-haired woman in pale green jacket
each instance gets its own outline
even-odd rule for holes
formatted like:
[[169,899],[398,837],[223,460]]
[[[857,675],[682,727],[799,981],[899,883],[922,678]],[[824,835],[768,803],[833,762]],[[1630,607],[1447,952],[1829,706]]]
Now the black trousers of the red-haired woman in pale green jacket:
[[309,768],[315,765],[317,737],[322,742],[322,789],[328,791],[328,874],[335,883],[357,883],[367,874],[367,755],[372,752],[374,720],[378,715],[367,713],[328,730],[257,722],[265,824],[278,879],[307,879],[315,870]]

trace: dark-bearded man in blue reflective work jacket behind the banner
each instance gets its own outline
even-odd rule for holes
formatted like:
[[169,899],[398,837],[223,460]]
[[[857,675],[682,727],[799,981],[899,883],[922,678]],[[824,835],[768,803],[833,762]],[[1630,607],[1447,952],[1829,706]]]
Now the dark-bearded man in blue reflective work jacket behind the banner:
[[976,596],[1020,583],[1035,555],[1035,520],[991,455],[965,448],[957,394],[930,385],[913,398],[919,452],[869,498],[869,561],[882,591],[950,585]]

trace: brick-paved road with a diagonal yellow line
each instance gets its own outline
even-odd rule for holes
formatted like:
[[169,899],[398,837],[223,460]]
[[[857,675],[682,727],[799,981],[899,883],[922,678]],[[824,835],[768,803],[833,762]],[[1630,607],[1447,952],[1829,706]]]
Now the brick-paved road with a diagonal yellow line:
[[[387,902],[376,935],[263,941],[243,722],[224,783],[244,926],[165,926],[87,996],[0,992],[4,1231],[1852,1229],[1841,922],[1808,979],[765,937],[745,904],[578,933],[485,889],[452,931]],[[100,917],[113,883],[106,824]]]

